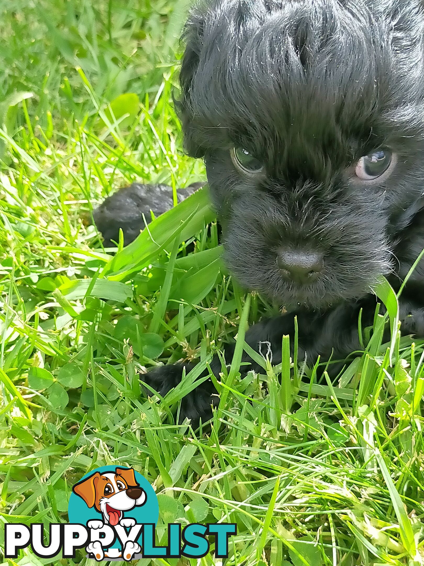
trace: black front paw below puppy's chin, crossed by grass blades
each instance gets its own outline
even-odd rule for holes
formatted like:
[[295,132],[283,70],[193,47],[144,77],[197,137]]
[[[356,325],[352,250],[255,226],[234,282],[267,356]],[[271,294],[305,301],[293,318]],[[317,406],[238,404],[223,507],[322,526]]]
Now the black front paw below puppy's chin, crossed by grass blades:
[[[184,368],[186,374],[188,374],[193,367],[189,363],[155,367],[153,370],[148,371],[147,374],[144,374],[141,379],[164,397],[168,391],[180,383]],[[152,392],[146,388],[145,391],[147,395],[152,395]],[[210,421],[212,418],[211,406],[217,406],[219,403],[216,393],[214,385],[209,379],[196,387],[196,389],[193,389],[193,391],[181,399],[179,422],[183,422],[186,417],[195,425],[200,420],[202,423]]]

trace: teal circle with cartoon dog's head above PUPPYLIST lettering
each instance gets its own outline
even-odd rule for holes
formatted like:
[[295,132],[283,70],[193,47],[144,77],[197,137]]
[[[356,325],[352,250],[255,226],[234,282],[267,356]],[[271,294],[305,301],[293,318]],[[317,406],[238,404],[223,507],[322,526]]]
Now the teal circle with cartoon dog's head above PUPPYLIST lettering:
[[[68,517],[70,523],[83,525],[97,521],[96,528],[100,528],[100,522],[126,528],[134,521],[157,525],[158,498],[147,479],[133,468],[102,466],[85,474],[72,487]],[[137,542],[140,539],[141,535]],[[121,550],[118,539],[111,549],[110,558],[118,558]]]

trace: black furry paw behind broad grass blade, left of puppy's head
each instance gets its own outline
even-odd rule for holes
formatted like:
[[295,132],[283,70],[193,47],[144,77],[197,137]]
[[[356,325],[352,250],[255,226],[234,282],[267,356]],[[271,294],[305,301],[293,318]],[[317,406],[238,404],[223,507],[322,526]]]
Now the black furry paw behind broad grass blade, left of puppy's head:
[[[193,183],[187,188],[179,189],[178,201],[184,200],[193,194],[204,183]],[[124,234],[124,245],[128,245],[137,238],[140,230],[152,220],[150,211],[159,216],[170,210],[173,206],[172,188],[167,185],[143,185],[132,183],[129,187],[121,188],[105,199],[93,211],[94,223],[102,233],[105,247],[113,246],[118,242],[119,228]]]

